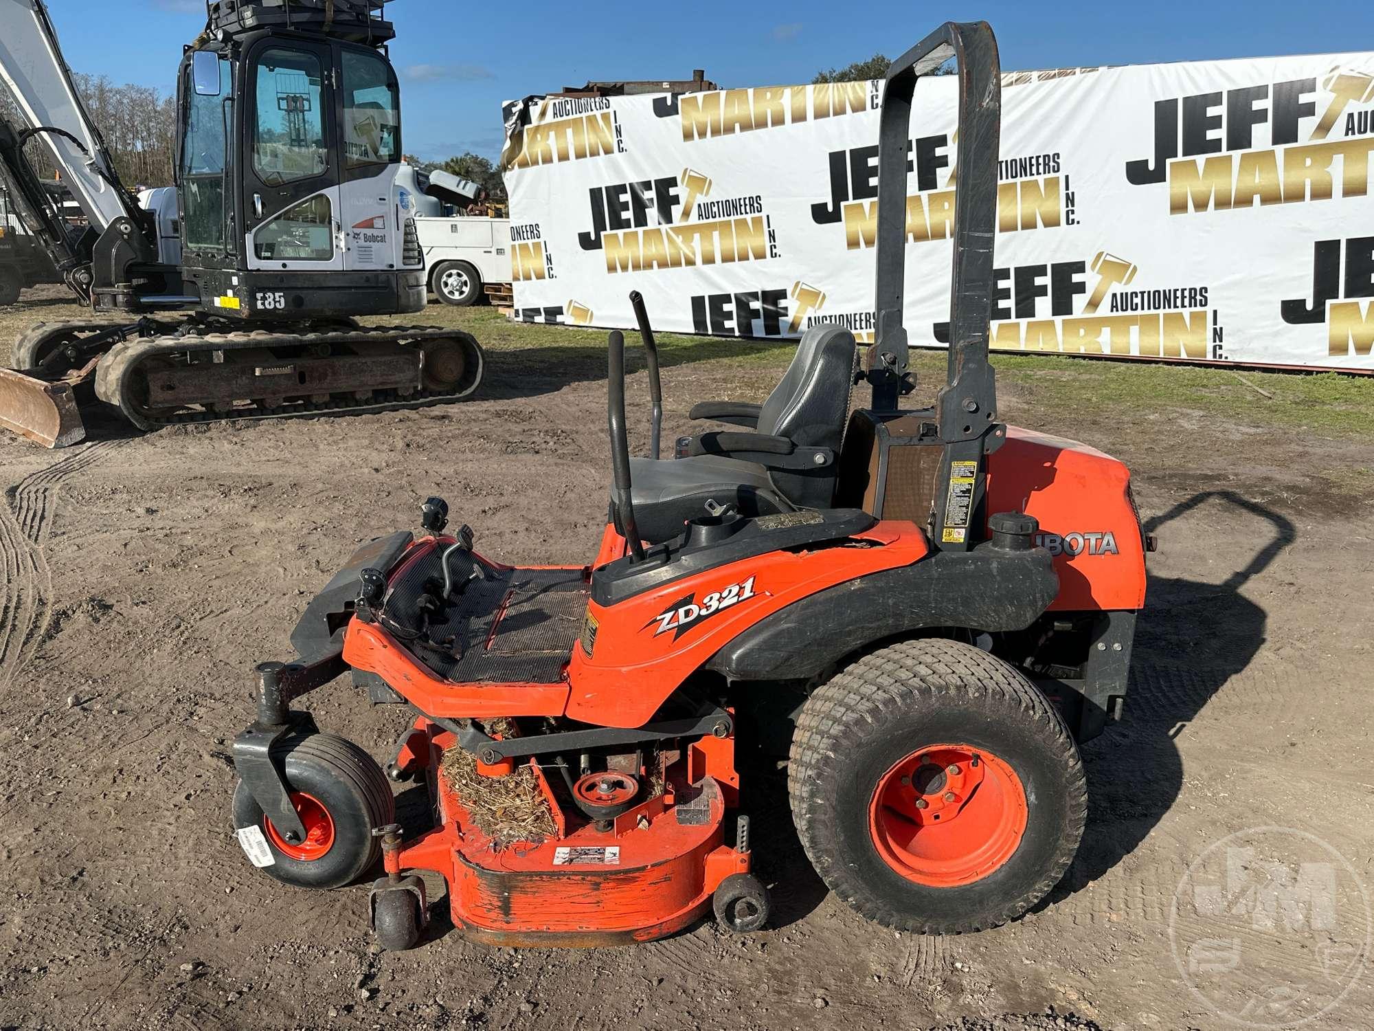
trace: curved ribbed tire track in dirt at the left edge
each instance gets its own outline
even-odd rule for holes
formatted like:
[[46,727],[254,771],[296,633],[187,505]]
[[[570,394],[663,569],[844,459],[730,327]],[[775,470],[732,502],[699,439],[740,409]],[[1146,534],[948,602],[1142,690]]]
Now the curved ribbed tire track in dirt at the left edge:
[[0,507],[0,690],[14,683],[48,628],[52,575],[43,539],[52,525],[62,481],[98,462],[114,447],[102,441],[69,454],[5,491]]

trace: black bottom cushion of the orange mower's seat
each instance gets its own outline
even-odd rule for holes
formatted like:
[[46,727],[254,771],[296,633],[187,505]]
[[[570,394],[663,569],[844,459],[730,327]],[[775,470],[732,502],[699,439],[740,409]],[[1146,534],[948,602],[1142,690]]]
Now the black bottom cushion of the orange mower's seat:
[[683,532],[687,520],[708,516],[708,500],[734,505],[741,516],[772,516],[794,509],[774,485],[767,469],[735,458],[632,458],[629,478],[639,536],[650,544],[672,540]]

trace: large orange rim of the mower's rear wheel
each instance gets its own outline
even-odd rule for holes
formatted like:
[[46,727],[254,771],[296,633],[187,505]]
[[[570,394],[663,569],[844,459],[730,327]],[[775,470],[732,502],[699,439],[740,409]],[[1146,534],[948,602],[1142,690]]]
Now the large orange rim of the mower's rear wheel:
[[882,775],[868,804],[878,855],[932,888],[982,880],[1011,858],[1025,829],[1021,778],[998,756],[969,745],[912,752]]

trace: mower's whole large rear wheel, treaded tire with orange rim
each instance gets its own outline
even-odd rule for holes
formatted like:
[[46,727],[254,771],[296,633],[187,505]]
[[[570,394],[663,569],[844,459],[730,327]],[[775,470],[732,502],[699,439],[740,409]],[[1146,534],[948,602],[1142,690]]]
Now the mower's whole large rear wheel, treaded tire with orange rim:
[[1002,660],[944,639],[878,649],[822,685],[797,720],[787,781],[830,889],[919,933],[1024,914],[1069,867],[1087,818],[1079,751],[1050,701]]

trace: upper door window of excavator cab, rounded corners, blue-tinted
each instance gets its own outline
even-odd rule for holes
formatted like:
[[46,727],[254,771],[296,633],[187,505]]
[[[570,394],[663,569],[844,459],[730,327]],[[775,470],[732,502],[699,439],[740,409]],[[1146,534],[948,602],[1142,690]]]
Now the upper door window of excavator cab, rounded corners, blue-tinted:
[[320,58],[273,47],[257,59],[253,170],[267,186],[319,176],[328,168]]

